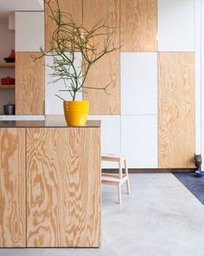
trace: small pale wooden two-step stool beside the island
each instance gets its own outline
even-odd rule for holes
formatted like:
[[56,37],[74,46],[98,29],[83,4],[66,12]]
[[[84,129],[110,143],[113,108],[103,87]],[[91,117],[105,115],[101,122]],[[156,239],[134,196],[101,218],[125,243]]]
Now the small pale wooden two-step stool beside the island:
[[[128,175],[128,168],[125,156],[118,154],[103,154],[101,156],[102,161],[116,161],[118,162],[119,174],[105,174],[102,173],[102,184],[118,186],[118,201],[121,205],[121,185],[126,182],[127,194],[131,194],[131,187]],[[123,161],[124,161],[124,174],[123,174]]]

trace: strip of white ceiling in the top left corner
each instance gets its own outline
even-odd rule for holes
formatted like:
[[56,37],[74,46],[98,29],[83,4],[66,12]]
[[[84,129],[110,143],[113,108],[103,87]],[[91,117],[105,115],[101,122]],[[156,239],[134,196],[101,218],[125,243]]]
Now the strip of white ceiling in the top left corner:
[[43,0],[0,0],[0,10],[43,10]]

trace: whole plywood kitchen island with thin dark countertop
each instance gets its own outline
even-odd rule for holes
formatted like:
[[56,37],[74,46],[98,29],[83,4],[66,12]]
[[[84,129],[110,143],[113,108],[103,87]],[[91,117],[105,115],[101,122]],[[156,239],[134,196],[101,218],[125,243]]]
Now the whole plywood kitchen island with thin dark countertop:
[[100,122],[0,121],[0,246],[99,247]]

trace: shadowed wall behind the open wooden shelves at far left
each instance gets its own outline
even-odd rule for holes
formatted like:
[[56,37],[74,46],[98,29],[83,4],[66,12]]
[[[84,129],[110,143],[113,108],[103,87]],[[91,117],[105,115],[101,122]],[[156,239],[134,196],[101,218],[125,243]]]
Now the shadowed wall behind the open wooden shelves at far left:
[[[8,24],[0,24],[0,62],[4,62],[3,58],[10,56],[10,50],[15,49],[15,34],[8,28]],[[0,68],[0,78],[6,76],[15,77],[15,70]],[[0,115],[3,114],[3,105],[14,101],[14,89],[0,89]]]

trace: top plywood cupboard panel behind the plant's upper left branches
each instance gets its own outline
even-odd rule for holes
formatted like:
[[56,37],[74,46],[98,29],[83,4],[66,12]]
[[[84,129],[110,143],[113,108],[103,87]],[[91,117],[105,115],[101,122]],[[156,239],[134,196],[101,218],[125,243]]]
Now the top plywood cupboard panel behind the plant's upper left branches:
[[[57,4],[55,0],[51,0],[51,6],[53,10],[57,10]],[[70,13],[73,16],[73,20],[77,24],[82,23],[82,0],[61,0],[59,1],[61,10],[63,12]],[[54,20],[50,17],[50,10],[48,5],[45,4],[45,49],[49,49],[49,42],[51,41],[55,28]]]

